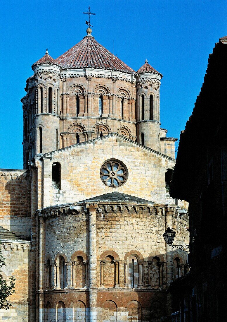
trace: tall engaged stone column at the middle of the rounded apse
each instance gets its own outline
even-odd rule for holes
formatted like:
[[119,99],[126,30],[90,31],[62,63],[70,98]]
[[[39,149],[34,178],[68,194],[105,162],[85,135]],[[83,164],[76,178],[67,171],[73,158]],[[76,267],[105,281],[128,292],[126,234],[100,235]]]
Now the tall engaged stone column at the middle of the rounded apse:
[[97,322],[97,205],[86,205],[89,212],[89,321]]

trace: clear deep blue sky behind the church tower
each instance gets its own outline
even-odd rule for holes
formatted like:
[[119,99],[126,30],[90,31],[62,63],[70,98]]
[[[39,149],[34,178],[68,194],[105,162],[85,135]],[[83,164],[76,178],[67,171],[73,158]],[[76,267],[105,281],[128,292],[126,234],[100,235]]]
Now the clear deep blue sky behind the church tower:
[[145,59],[163,74],[161,127],[179,137],[204,80],[209,53],[227,34],[227,1],[1,1],[0,168],[23,167],[20,99],[32,63],[46,48],[57,58],[86,35],[90,4],[93,35],[138,70]]

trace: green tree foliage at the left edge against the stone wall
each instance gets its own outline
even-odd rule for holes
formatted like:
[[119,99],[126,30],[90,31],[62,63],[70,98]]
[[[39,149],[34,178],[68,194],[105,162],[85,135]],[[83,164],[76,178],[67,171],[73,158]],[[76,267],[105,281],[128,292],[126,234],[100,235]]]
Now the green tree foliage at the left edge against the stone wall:
[[[5,258],[2,256],[2,252],[0,250],[0,272],[2,271],[2,267],[5,266]],[[7,298],[15,293],[15,276],[11,276],[9,278],[9,283],[6,283],[5,279],[0,278],[0,308],[8,310],[12,305]]]

